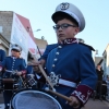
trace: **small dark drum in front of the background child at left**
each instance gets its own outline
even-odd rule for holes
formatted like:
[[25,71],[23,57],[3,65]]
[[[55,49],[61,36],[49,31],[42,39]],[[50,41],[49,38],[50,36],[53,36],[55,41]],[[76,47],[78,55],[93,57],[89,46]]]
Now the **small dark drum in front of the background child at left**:
[[1,80],[1,89],[2,90],[17,90],[20,84],[14,78],[2,78]]

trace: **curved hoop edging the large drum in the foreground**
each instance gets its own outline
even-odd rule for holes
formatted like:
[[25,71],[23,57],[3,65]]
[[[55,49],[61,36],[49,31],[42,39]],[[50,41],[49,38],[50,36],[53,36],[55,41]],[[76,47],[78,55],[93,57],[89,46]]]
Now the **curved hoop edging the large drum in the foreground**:
[[25,89],[17,90],[17,92],[12,96],[12,98],[11,98],[11,108],[12,108],[12,109],[13,109],[13,107],[12,107],[12,106],[13,106],[13,100],[16,98],[17,94],[23,94],[23,93],[25,93],[25,92],[26,92],[26,93],[29,93],[29,92],[32,92],[32,93],[37,92],[37,93],[47,95],[48,97],[50,97],[51,99],[53,99],[53,100],[58,104],[58,106],[59,106],[60,109],[62,109],[61,104],[60,104],[60,102],[58,101],[58,99],[55,98],[51,94],[45,92],[44,89],[36,89],[36,88],[32,88],[32,89],[25,88]]

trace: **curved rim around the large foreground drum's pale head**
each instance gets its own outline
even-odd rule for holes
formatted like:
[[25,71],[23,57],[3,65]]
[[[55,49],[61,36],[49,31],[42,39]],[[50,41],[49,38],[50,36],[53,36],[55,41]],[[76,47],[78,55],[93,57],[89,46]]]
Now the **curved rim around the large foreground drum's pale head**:
[[14,107],[13,107],[13,105],[12,105],[12,101],[13,101],[13,98],[17,95],[17,94],[22,94],[23,92],[32,92],[32,90],[34,90],[34,92],[40,92],[41,94],[45,94],[45,95],[47,95],[47,96],[49,96],[51,99],[53,99],[57,104],[58,104],[58,106],[60,107],[60,109],[63,109],[63,107],[62,107],[62,105],[60,104],[60,101],[57,99],[57,98],[55,98],[50,93],[48,93],[48,92],[46,92],[46,90],[44,90],[44,89],[38,89],[38,88],[24,88],[24,89],[20,89],[20,90],[17,90],[17,92],[15,92],[14,94],[13,94],[13,96],[12,96],[12,98],[11,98],[11,100],[10,100],[10,105],[11,105],[11,108],[12,109],[14,109]]

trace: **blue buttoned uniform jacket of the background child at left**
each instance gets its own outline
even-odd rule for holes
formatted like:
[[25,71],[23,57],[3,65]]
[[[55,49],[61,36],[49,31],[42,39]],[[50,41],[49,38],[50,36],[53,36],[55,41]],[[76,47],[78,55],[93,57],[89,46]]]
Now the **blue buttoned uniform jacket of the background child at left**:
[[[5,57],[5,59],[1,63],[1,66],[5,70],[17,70],[21,71],[23,74],[26,73],[26,62],[22,58]],[[9,72],[4,73],[8,74]]]

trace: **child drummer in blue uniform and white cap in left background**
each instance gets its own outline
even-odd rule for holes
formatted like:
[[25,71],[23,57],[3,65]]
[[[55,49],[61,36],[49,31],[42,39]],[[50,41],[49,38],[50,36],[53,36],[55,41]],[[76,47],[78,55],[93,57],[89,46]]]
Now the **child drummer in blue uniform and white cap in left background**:
[[[26,73],[26,62],[24,59],[20,58],[22,48],[19,45],[12,45],[11,47],[11,56],[5,57],[5,59],[1,63],[1,69],[5,69],[5,72],[3,74],[3,77],[10,77],[9,71],[17,71],[16,75],[25,75]],[[12,90],[4,90],[3,92],[3,98],[4,98],[4,109],[9,109],[10,107],[10,100],[13,95]]]

